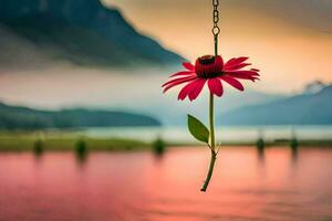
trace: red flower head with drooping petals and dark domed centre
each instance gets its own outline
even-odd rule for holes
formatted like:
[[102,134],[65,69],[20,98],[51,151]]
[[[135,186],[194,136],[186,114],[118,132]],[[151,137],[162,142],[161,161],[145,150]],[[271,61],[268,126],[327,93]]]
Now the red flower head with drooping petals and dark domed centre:
[[248,59],[243,56],[236,57],[224,64],[220,55],[205,55],[197,59],[195,65],[185,62],[183,65],[187,71],[173,74],[170,76],[173,78],[163,85],[164,93],[172,87],[187,83],[179,92],[178,99],[184,101],[189,97],[190,101],[194,101],[207,83],[210,93],[220,97],[224,94],[221,82],[226,82],[239,91],[245,91],[239,80],[250,80],[252,82],[259,80],[259,70],[243,70],[243,67],[251,65],[246,63]]

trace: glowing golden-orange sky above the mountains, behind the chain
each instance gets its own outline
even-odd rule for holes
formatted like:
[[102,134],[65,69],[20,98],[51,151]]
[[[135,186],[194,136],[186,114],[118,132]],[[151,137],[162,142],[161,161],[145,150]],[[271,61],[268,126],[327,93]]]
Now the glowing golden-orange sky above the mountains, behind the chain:
[[[191,61],[212,53],[211,1],[103,1]],[[226,59],[250,56],[262,71],[260,90],[293,92],[315,80],[332,82],[331,11],[326,0],[220,1],[220,53]]]

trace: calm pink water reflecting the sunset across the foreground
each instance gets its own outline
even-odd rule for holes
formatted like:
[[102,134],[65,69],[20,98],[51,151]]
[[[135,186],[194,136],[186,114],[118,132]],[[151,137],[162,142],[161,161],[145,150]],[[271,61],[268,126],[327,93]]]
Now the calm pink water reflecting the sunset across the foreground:
[[1,221],[331,221],[332,149],[0,154]]

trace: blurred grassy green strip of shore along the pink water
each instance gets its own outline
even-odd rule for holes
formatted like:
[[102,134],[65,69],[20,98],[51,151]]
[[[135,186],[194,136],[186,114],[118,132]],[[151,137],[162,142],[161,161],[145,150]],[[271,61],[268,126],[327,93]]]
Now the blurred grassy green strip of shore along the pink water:
[[[258,144],[258,141],[263,141]],[[157,146],[157,147],[156,147]],[[126,138],[92,138],[77,134],[37,134],[37,133],[1,133],[0,152],[4,151],[135,151],[155,150],[156,148],[173,147],[199,147],[200,143],[183,141],[169,143],[156,139],[154,141],[143,141]],[[220,147],[252,147],[252,148],[332,148],[331,139],[280,139],[280,140],[257,140],[257,141],[228,141]],[[81,150],[80,150],[81,149]]]

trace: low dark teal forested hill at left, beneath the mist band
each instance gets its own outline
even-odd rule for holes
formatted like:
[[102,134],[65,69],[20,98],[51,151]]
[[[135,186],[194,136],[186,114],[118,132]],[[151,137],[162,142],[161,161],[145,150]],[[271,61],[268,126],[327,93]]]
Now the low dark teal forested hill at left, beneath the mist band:
[[152,117],[124,112],[63,109],[38,110],[0,103],[0,129],[44,129],[120,126],[159,126]]

